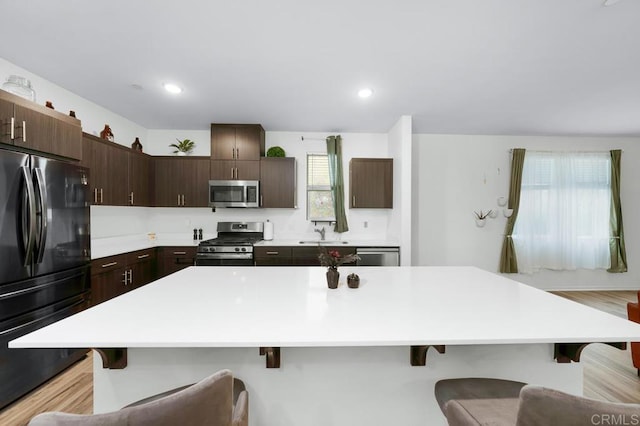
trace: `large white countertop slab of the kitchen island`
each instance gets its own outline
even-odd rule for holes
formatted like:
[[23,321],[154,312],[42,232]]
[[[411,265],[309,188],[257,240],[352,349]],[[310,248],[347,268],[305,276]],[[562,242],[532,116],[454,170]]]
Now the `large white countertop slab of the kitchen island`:
[[[346,286],[356,272],[360,288]],[[189,267],[9,347],[640,341],[640,324],[474,267]]]

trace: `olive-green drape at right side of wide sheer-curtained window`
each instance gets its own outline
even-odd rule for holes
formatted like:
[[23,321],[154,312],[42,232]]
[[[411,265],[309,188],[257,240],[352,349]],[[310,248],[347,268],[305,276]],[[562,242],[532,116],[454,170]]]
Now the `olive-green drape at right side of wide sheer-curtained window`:
[[627,250],[624,247],[622,205],[620,204],[620,157],[622,151],[611,151],[611,218],[609,219],[609,250],[611,266],[607,272],[627,272]]

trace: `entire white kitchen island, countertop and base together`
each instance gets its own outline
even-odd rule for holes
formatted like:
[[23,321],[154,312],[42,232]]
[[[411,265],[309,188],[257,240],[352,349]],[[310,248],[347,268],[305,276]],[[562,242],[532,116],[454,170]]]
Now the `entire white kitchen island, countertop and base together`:
[[[360,288],[346,286],[350,272]],[[10,347],[126,349],[109,352],[116,369],[94,357],[95,412],[229,368],[252,425],[419,425],[445,424],[441,378],[581,394],[581,364],[558,360],[640,340],[640,324],[473,267],[340,273],[330,290],[320,267],[190,267]]]

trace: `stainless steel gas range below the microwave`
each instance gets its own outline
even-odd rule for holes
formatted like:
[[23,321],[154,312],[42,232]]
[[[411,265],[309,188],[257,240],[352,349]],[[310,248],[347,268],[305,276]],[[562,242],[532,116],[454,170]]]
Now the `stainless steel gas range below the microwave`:
[[198,266],[253,266],[253,244],[264,237],[264,222],[218,222],[218,238],[202,241]]

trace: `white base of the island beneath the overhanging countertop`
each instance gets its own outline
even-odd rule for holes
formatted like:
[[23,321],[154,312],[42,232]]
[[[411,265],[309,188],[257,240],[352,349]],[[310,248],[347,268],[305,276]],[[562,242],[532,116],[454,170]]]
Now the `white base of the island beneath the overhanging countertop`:
[[[345,325],[346,326],[346,325]],[[409,347],[282,348],[280,368],[265,368],[258,348],[128,351],[123,370],[94,357],[94,409],[106,412],[222,368],[245,381],[250,425],[445,425],[434,398],[437,380],[495,377],[582,394],[582,365],[558,364],[553,344],[434,348],[426,366],[409,363]]]

